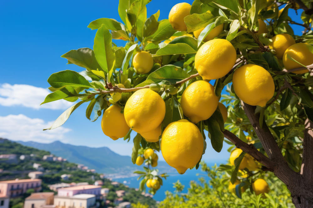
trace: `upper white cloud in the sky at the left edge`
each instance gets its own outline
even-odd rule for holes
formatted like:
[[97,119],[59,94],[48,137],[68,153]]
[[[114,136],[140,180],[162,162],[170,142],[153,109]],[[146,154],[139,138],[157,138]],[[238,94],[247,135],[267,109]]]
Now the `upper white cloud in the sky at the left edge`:
[[0,105],[22,105],[33,109],[67,109],[73,105],[63,99],[40,105],[49,93],[49,89],[41,87],[5,83],[0,85]]

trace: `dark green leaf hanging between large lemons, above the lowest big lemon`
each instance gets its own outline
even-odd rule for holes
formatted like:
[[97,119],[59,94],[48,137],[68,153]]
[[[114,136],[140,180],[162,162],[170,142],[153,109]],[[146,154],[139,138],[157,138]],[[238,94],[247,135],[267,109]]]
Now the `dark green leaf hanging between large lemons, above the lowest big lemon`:
[[182,119],[179,108],[180,104],[175,97],[165,100],[165,116],[163,119],[164,126]]

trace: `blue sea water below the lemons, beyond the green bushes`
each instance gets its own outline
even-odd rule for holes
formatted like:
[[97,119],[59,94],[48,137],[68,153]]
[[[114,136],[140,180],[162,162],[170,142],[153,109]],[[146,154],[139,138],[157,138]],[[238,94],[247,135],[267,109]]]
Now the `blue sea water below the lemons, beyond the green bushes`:
[[[219,163],[207,163],[208,167],[214,166],[214,164],[219,165]],[[163,185],[160,187],[160,189],[156,192],[156,194],[153,196],[153,199],[156,201],[163,201],[165,199],[165,191],[174,192],[175,188],[173,187],[173,183],[175,183],[177,180],[179,180],[182,185],[184,185],[184,190],[182,193],[187,193],[190,181],[196,181],[199,182],[199,178],[203,177],[206,181],[209,181],[210,178],[208,177],[206,172],[201,171],[201,167],[196,170],[193,168],[192,170],[188,169],[184,174],[168,174],[169,177],[165,180],[163,178]],[[118,178],[113,179],[114,181],[123,183],[124,185],[127,185],[131,188],[138,188],[139,187],[139,181],[137,180],[138,177],[129,177],[129,178]],[[148,188],[147,188],[148,189]],[[146,189],[146,190],[147,190]],[[147,191],[146,191],[147,192]],[[148,192],[147,192],[148,193]]]

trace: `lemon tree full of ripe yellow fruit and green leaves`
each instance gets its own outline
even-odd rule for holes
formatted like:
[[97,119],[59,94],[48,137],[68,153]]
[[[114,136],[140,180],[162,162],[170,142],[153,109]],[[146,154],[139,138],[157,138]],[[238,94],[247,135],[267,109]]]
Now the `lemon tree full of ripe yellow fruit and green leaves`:
[[120,21],[88,25],[97,30],[93,49],[61,56],[85,70],[48,78],[42,104],[73,106],[47,129],[88,103],[87,119],[102,116],[105,135],[132,139],[140,190],[152,194],[168,176],[158,172],[156,152],[183,174],[199,167],[207,145],[220,152],[228,143],[230,163],[219,168],[239,199],[270,196],[264,174],[273,172],[296,207],[312,207],[312,2],[194,0],[171,5],[162,20],[160,10],[147,16],[149,2],[120,0]]

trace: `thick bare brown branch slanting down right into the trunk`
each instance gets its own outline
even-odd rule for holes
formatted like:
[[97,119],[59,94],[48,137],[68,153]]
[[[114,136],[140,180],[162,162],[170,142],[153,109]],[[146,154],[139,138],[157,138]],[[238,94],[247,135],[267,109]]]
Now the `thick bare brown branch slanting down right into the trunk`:
[[227,138],[229,141],[234,143],[237,148],[242,149],[244,152],[248,153],[252,157],[254,157],[257,161],[262,163],[265,167],[268,168],[268,170],[273,171],[274,170],[274,162],[271,161],[268,157],[266,157],[264,154],[259,152],[253,144],[247,144],[241,139],[239,139],[235,134],[231,133],[228,130],[223,131],[224,137]]

